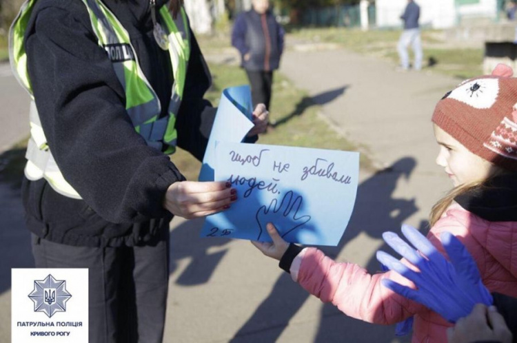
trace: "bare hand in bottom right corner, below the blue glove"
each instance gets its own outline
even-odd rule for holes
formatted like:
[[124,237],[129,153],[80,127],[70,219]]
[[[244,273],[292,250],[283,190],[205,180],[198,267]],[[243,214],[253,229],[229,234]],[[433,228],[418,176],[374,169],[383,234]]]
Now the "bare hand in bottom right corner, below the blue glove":
[[495,341],[511,343],[511,332],[505,319],[494,306],[476,304],[467,317],[460,318],[456,326],[447,329],[449,343],[471,343],[477,341]]

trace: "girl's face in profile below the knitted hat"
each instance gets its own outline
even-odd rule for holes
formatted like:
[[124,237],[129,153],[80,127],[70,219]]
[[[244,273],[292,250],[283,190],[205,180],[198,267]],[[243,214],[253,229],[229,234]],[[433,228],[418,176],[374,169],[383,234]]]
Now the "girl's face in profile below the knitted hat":
[[495,172],[494,165],[470,152],[436,124],[433,126],[436,142],[440,145],[436,164],[445,169],[454,187],[485,180]]

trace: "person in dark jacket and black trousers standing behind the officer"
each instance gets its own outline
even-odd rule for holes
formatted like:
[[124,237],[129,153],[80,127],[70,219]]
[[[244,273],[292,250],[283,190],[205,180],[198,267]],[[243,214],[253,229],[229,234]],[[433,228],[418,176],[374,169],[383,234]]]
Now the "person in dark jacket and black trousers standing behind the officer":
[[252,9],[239,14],[232,30],[232,45],[241,53],[241,66],[252,87],[252,101],[254,105],[265,104],[267,110],[284,37],[284,30],[269,7],[268,0],[253,0]]

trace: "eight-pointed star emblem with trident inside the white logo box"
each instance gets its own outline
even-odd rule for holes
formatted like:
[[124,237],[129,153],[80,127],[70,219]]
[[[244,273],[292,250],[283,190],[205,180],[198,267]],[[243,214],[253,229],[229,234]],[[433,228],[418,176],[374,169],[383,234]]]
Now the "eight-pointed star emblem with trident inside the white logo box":
[[65,280],[56,280],[49,274],[43,280],[34,280],[34,290],[28,297],[34,302],[34,312],[43,312],[51,318],[56,312],[66,311],[66,302],[72,295],[66,290]]

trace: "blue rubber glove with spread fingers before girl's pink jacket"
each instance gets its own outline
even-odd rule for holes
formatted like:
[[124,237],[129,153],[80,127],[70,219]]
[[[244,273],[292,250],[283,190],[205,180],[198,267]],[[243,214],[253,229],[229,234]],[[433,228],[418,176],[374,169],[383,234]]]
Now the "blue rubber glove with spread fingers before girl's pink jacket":
[[469,315],[474,305],[491,305],[492,299],[487,287],[481,282],[476,262],[465,246],[452,233],[440,235],[450,262],[417,229],[403,225],[402,232],[416,251],[396,233],[385,232],[383,239],[396,252],[414,264],[420,273],[412,271],[384,251],[377,251],[377,260],[388,269],[411,280],[417,289],[410,289],[389,279],[383,279],[383,286],[405,298],[420,302],[439,313],[449,322]]

